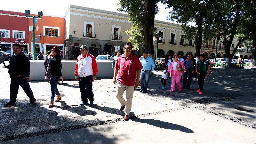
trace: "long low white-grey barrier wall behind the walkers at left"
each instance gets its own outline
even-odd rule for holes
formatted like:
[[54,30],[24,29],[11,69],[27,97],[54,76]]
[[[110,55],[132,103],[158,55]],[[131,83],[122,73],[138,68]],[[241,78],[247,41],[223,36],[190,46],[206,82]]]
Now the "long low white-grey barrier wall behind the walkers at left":
[[[98,66],[97,77],[113,77],[111,60],[96,60]],[[62,60],[62,77],[75,79],[76,60]],[[30,80],[45,80],[44,60],[30,60]]]

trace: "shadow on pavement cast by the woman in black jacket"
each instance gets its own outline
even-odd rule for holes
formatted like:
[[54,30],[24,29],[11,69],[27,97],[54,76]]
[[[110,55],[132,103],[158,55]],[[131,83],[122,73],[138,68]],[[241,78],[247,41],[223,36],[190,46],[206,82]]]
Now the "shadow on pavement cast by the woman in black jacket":
[[53,107],[55,108],[61,108],[63,110],[68,110],[72,113],[76,113],[80,116],[87,116],[87,115],[92,115],[92,116],[95,116],[97,115],[97,112],[95,111],[92,111],[92,110],[85,110],[87,109],[86,107],[84,106],[68,106],[64,101],[60,100],[59,101],[61,103],[61,107],[60,106],[56,106],[56,105],[53,105]]

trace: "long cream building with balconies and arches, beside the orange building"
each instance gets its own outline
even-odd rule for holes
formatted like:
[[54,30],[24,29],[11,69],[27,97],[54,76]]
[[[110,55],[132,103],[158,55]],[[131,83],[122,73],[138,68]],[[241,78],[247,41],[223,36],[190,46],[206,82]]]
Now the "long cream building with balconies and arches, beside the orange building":
[[[127,14],[109,12],[93,8],[69,5],[65,14],[66,20],[66,59],[74,60],[78,56],[79,47],[87,45],[89,52],[94,55],[112,55],[116,48],[123,50],[123,44],[129,35],[124,34],[132,26]],[[195,53],[193,40],[185,40],[184,32],[178,24],[156,20],[162,40],[158,43],[158,57],[181,53]],[[156,52],[156,42],[154,43]],[[136,52],[141,55],[140,52]]]

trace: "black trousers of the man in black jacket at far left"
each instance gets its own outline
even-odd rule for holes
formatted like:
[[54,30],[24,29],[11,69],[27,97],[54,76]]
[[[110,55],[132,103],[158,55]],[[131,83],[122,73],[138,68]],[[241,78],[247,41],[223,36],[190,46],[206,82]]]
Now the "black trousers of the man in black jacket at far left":
[[19,91],[19,86],[22,87],[22,89],[27,94],[27,96],[28,96],[28,98],[30,99],[31,102],[36,100],[34,98],[33,92],[32,92],[32,90],[29,86],[28,81],[26,81],[26,79],[24,77],[10,76],[10,78],[11,78],[10,103],[15,103],[16,102],[16,98],[17,98],[18,91]]

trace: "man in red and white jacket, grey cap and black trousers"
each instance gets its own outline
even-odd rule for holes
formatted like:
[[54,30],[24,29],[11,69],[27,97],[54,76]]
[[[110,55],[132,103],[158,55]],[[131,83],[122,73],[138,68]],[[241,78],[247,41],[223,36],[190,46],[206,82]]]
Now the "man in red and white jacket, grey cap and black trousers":
[[[88,104],[87,98],[90,100],[90,105],[93,104],[92,81],[96,79],[98,72],[95,58],[88,52],[86,45],[81,45],[81,54],[76,59],[75,76],[79,80],[79,88],[81,92],[81,106]],[[78,75],[80,77],[78,77]]]

